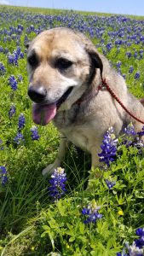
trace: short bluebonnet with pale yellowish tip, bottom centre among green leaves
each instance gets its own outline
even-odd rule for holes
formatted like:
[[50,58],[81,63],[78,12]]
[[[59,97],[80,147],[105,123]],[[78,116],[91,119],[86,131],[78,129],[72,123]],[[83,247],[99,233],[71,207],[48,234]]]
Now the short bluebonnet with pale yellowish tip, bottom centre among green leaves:
[[95,200],[89,202],[88,207],[82,210],[82,214],[86,216],[84,224],[95,223],[98,218],[102,218],[102,214],[98,212],[100,209],[101,207],[96,205]]

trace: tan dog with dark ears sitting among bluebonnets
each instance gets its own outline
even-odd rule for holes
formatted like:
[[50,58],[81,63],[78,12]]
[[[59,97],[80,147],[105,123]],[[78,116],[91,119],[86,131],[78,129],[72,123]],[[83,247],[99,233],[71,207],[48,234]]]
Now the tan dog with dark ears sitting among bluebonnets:
[[143,125],[102,88],[102,81],[107,81],[125,108],[144,120],[142,103],[83,33],[64,27],[41,32],[27,45],[27,69],[34,122],[47,125],[53,120],[62,135],[57,158],[43,175],[60,166],[69,142],[89,151],[95,168],[100,164],[98,154],[109,127],[116,136],[130,122],[135,131],[141,131]]

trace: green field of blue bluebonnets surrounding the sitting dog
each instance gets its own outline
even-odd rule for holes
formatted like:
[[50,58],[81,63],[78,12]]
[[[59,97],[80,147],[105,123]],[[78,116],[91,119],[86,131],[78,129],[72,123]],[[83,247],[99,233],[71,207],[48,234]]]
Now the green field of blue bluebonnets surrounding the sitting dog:
[[0,25],[1,255],[144,255],[144,131],[137,134],[132,124],[119,138],[107,131],[103,166],[90,172],[90,189],[89,155],[74,146],[52,177],[44,178],[60,135],[52,124],[32,122],[25,46],[55,26],[84,32],[141,98],[144,20],[1,7]]

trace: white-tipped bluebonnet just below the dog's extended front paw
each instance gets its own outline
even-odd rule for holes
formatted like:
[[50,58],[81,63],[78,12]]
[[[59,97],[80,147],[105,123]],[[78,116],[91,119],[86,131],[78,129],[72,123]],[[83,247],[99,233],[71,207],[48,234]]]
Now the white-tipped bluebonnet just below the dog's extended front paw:
[[58,201],[66,193],[66,173],[61,167],[55,169],[49,180],[49,195],[54,201]]

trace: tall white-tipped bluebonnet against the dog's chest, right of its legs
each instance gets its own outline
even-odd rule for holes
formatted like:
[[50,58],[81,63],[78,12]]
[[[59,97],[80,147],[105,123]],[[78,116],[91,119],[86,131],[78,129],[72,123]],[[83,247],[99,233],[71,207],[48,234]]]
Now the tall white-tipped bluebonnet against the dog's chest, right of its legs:
[[101,145],[100,161],[105,162],[110,166],[110,162],[114,161],[114,156],[117,154],[118,138],[113,134],[113,128],[109,128],[106,132]]

